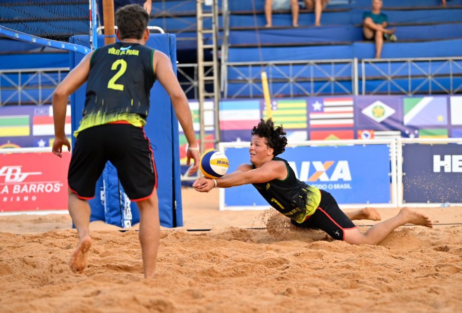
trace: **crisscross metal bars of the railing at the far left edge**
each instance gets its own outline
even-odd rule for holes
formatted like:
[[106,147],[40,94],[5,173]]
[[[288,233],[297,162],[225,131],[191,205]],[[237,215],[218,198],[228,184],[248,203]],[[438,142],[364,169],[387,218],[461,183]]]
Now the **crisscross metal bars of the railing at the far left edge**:
[[[58,79],[55,80],[53,77],[49,75],[49,73],[58,73]],[[27,105],[30,105],[31,102],[34,105],[42,106],[45,103],[49,103],[51,100],[52,93],[50,93],[46,97],[42,97],[42,90],[43,89],[52,89],[54,90],[55,87],[61,82],[61,80],[67,75],[69,72],[69,67],[59,67],[59,68],[28,68],[28,69],[7,69],[7,70],[0,70],[0,108],[7,105],[8,101],[11,100],[14,96],[18,95],[18,102],[19,106],[24,105],[23,98],[27,99]],[[12,74],[18,75],[18,82],[16,83],[11,77]],[[23,79],[23,75],[29,75],[28,78]],[[38,85],[29,86],[31,81],[37,78]],[[51,84],[46,85],[43,84],[44,79],[46,79]],[[11,87],[5,87],[2,85],[2,81],[7,81]],[[3,90],[14,90],[14,92],[7,97],[6,99],[2,98],[2,89]],[[39,98],[36,99],[31,96],[27,90],[28,89],[36,89],[39,91]],[[48,101],[48,102],[47,102]]]

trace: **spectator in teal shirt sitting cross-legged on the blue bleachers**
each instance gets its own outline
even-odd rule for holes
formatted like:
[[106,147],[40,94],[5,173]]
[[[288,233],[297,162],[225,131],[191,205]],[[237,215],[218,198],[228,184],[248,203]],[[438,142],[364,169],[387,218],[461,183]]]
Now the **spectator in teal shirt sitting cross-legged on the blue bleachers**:
[[372,11],[363,14],[363,37],[364,40],[375,40],[376,59],[380,59],[384,39],[396,41],[393,35],[396,29],[386,29],[388,17],[380,12],[382,5],[382,0],[373,0]]

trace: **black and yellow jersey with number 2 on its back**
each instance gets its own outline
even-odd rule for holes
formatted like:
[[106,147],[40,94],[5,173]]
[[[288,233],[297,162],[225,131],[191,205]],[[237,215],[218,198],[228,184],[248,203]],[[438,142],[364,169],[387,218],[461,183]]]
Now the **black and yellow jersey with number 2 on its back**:
[[84,129],[102,124],[146,124],[149,95],[156,80],[154,51],[142,44],[118,42],[93,52],[83,118],[75,137]]

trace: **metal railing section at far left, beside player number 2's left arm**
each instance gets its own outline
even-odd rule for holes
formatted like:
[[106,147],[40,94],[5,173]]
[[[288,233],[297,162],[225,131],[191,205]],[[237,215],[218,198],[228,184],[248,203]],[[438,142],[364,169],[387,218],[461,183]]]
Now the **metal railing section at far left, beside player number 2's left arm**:
[[69,67],[0,70],[0,107],[51,103],[53,90]]

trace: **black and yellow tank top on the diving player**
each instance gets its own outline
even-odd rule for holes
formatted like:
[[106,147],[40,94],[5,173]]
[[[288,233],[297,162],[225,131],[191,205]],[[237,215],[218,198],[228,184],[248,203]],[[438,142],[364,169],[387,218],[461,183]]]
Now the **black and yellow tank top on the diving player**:
[[[303,223],[319,206],[321,192],[318,188],[298,180],[286,160],[274,157],[273,161],[284,162],[287,168],[286,179],[273,179],[253,185],[277,211],[298,223]],[[255,165],[252,167],[255,168]]]

